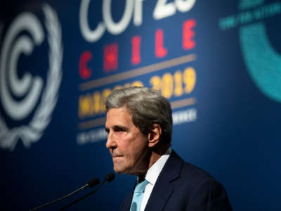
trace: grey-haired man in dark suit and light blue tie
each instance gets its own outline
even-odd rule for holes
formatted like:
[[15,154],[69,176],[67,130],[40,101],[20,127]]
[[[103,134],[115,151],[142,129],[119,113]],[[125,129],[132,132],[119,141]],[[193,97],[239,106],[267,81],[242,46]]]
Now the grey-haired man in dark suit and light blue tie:
[[122,210],[232,210],[214,177],[171,150],[171,106],[158,91],[115,90],[107,97],[106,110],[106,147],[114,170],[137,176]]

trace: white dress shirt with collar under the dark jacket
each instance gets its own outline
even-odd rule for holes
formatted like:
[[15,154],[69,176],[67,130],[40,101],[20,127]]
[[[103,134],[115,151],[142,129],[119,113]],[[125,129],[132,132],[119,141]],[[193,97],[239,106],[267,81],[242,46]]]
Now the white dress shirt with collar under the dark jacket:
[[150,167],[148,172],[145,174],[145,179],[148,181],[148,184],[145,186],[145,192],[143,193],[143,201],[141,203],[141,211],[145,210],[146,204],[148,203],[148,199],[150,198],[150,194],[152,192],[153,187],[157,181],[157,178],[162,171],[166,161],[168,160],[169,156],[171,155],[171,148],[169,147],[168,150],[162,155],[155,164]]

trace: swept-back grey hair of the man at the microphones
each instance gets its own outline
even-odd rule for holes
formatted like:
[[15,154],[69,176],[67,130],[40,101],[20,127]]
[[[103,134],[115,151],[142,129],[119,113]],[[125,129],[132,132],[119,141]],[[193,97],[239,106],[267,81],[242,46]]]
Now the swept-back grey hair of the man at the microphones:
[[162,129],[160,142],[171,143],[172,111],[169,101],[159,91],[146,87],[129,87],[116,89],[107,96],[106,111],[111,108],[125,107],[141,133],[147,135],[153,124],[159,124]]

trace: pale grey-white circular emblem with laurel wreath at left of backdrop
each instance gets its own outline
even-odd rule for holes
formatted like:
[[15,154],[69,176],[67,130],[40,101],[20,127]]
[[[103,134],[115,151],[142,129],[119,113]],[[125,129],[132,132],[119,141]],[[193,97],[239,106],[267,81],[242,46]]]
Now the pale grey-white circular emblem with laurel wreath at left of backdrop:
[[[48,39],[48,72],[46,82],[39,76],[25,72],[21,78],[17,74],[20,55],[32,53],[34,46],[44,41],[44,29],[39,19],[32,13],[21,13],[8,27],[1,49],[0,58],[0,101],[4,112],[11,120],[20,122],[28,115],[28,124],[9,128],[0,114],[0,147],[13,151],[18,140],[25,147],[38,141],[51,121],[51,113],[58,101],[58,89],[62,79],[61,64],[63,45],[61,27],[55,11],[43,6]],[[25,31],[27,34],[20,34]],[[20,98],[20,101],[15,97]],[[38,106],[37,106],[38,105]],[[37,107],[35,107],[37,106]],[[36,108],[36,109],[35,109]]]

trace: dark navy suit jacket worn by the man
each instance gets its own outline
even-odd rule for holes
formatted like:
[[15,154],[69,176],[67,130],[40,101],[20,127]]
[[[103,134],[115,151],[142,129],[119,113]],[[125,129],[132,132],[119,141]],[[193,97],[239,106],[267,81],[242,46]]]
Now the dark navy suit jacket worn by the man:
[[[133,191],[121,210],[130,210]],[[184,162],[174,151],[163,167],[152,190],[145,211],[232,210],[223,186],[207,172]]]

